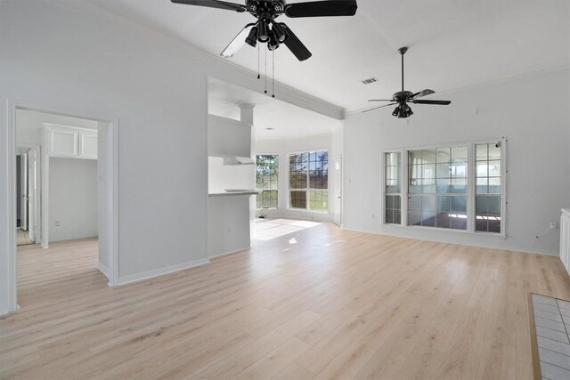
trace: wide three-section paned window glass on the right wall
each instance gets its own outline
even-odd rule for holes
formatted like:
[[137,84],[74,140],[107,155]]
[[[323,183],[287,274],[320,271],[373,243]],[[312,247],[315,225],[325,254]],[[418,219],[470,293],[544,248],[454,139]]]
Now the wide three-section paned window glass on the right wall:
[[503,232],[501,158],[501,141],[385,152],[384,222]]

